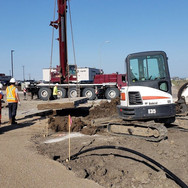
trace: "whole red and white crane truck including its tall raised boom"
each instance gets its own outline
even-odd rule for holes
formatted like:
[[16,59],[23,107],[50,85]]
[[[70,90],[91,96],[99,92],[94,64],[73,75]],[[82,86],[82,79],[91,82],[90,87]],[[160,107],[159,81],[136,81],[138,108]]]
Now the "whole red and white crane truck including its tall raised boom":
[[[76,65],[68,65],[67,58],[67,1],[58,0],[58,19],[52,21],[50,25],[59,29],[59,57],[60,65],[55,72],[51,72],[50,82],[41,84],[30,84],[27,90],[32,94],[37,94],[41,100],[52,98],[52,90],[55,83],[58,83],[59,97],[88,97],[90,100],[96,97],[113,99],[120,95],[120,88],[126,86],[125,74],[102,74],[92,75],[92,79],[79,80]],[[89,68],[92,69],[92,68]],[[72,71],[72,72],[71,72]],[[84,74],[84,73],[83,73]]]

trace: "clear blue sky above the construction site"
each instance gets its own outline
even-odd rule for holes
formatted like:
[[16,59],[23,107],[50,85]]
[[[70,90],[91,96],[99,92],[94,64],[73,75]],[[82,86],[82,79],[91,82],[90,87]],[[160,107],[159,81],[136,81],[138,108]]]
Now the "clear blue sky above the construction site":
[[[71,0],[76,61],[79,67],[124,73],[128,54],[163,50],[171,76],[188,77],[187,0]],[[0,0],[0,73],[42,79],[50,66],[54,0]],[[68,20],[69,23],[69,20]],[[55,38],[57,38],[55,32]],[[110,41],[110,42],[106,42]],[[68,58],[74,64],[70,24]],[[53,66],[59,64],[54,41]]]

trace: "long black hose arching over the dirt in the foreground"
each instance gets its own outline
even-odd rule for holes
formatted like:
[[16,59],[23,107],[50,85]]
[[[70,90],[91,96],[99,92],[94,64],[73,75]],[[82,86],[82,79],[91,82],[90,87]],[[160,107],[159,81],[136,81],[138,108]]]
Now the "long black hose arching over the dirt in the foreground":
[[188,188],[188,186],[181,180],[179,179],[175,174],[173,174],[170,170],[168,170],[167,168],[165,168],[164,166],[162,166],[161,164],[159,164],[157,161],[151,159],[150,157],[140,153],[140,152],[137,152],[135,150],[132,150],[132,149],[129,149],[129,148],[124,148],[124,147],[121,147],[121,146],[97,146],[97,147],[93,147],[93,148],[89,148],[89,149],[85,149],[83,151],[80,151],[74,155],[72,155],[70,157],[71,160],[74,160],[77,158],[77,156],[83,154],[83,153],[87,153],[89,151],[94,151],[94,150],[100,150],[100,149],[117,149],[117,150],[122,150],[122,151],[127,151],[127,152],[130,152],[130,153],[133,153],[135,155],[138,155],[148,161],[150,161],[151,163],[155,164],[156,166],[158,166],[160,169],[162,169],[165,173],[167,173],[167,175],[173,179],[180,187],[182,188]]

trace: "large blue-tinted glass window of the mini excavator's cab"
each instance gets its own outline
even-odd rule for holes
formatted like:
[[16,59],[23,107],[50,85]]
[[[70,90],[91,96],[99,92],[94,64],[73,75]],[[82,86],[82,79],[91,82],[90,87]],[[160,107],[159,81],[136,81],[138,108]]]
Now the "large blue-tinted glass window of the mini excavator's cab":
[[130,78],[132,82],[161,80],[167,76],[162,55],[141,56],[130,59]]

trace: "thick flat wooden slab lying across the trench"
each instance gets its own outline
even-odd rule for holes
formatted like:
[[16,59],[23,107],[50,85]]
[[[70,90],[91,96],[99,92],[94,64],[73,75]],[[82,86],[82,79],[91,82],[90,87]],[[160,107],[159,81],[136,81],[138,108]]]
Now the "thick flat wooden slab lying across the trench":
[[60,110],[60,109],[68,109],[75,108],[79,104],[87,103],[87,97],[77,97],[77,98],[65,98],[65,99],[57,99],[52,101],[41,101],[40,104],[37,105],[38,110]]

